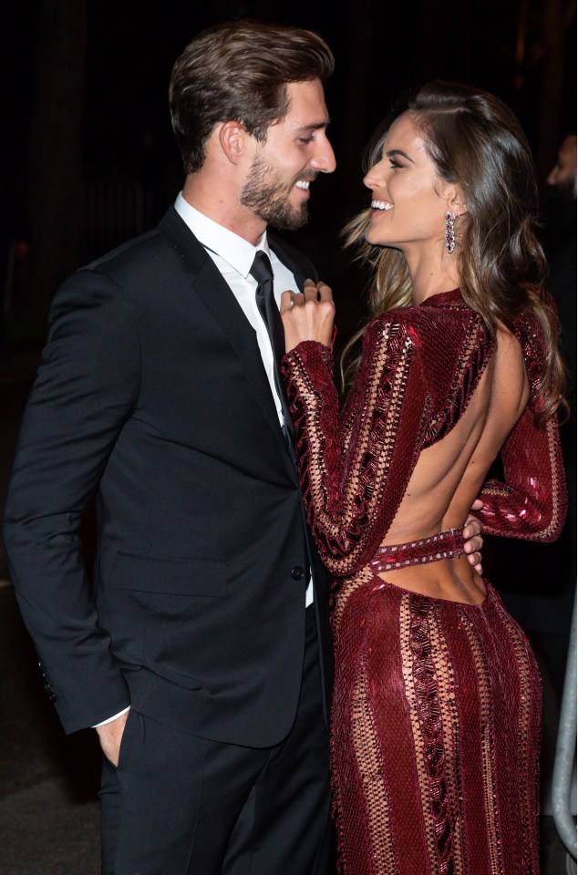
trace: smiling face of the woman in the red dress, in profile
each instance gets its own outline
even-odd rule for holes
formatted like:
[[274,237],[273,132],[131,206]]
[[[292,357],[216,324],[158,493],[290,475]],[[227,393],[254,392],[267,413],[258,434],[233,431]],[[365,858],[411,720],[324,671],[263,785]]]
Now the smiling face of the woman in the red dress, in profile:
[[364,179],[372,192],[366,241],[402,252],[441,247],[446,212],[454,211],[448,186],[436,175],[412,115],[405,112],[393,123],[381,160]]

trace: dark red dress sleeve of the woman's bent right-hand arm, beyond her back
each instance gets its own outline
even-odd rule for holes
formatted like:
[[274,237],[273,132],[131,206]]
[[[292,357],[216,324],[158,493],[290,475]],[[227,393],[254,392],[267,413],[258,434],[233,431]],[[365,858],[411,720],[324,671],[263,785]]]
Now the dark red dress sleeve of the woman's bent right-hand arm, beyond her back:
[[475,511],[484,534],[523,540],[556,540],[563,529],[568,494],[557,423],[534,424],[527,407],[501,451],[504,481],[489,480]]

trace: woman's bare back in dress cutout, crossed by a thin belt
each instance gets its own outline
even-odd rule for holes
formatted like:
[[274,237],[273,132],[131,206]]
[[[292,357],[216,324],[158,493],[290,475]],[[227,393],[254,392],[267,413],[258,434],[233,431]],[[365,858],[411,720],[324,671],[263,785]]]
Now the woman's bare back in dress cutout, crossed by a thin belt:
[[[500,331],[459,422],[420,453],[384,544],[426,538],[464,524],[528,397],[521,346],[514,335]],[[382,576],[408,590],[453,602],[479,603],[485,598],[485,586],[464,556]]]

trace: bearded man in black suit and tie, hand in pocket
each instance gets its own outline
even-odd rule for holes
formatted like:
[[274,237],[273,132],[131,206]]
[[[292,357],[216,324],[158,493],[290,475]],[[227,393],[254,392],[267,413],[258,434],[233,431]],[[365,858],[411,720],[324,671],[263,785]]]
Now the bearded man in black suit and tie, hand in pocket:
[[[170,82],[174,208],[52,307],[5,545],[66,731],[98,729],[105,873],[328,868],[325,575],[253,262],[269,257],[277,303],[315,277],[266,229],[302,225],[335,169],[333,66],[294,27],[197,36]],[[95,494],[93,595],[78,527]]]

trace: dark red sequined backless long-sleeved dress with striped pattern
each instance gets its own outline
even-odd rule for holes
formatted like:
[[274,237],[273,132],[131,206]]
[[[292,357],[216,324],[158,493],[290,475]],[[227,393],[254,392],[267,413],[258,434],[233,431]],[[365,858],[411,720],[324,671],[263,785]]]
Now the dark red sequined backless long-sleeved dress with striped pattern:
[[[490,480],[486,534],[554,540],[566,489],[557,427],[534,426],[539,333],[519,318],[531,401]],[[332,785],[345,875],[538,875],[542,685],[521,628],[481,604],[377,576],[462,552],[461,530],[381,548],[422,449],[467,407],[494,349],[459,291],[379,315],[339,410],[327,347],[283,370],[307,518],[333,575]]]

